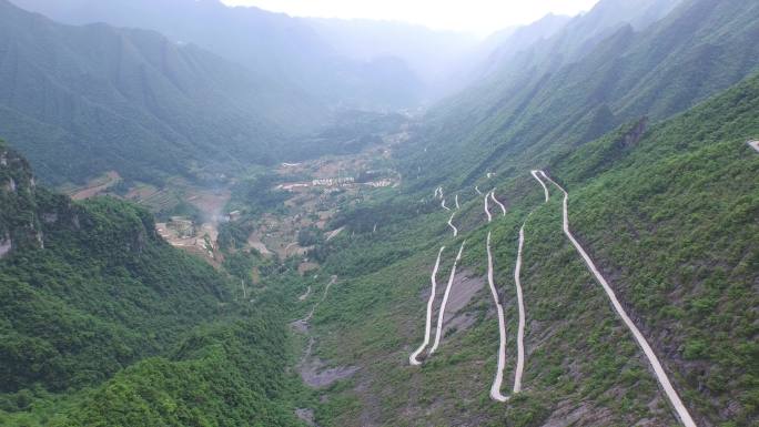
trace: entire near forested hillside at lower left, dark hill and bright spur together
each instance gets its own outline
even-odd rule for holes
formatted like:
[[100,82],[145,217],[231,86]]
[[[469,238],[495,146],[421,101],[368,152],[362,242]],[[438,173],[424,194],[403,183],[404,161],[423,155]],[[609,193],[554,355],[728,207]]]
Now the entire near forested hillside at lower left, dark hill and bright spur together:
[[295,425],[284,322],[146,211],[38,187],[0,142],[0,425]]

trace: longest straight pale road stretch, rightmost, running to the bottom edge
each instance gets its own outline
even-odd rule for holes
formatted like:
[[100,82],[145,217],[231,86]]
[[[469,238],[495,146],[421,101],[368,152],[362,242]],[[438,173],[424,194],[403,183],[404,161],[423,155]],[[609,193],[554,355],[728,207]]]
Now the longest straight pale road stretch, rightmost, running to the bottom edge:
[[601,287],[606,292],[606,295],[609,297],[611,305],[614,306],[614,309],[617,312],[619,317],[621,317],[623,322],[627,326],[627,328],[632,333],[632,336],[635,337],[636,342],[642,349],[644,354],[646,355],[646,358],[648,359],[648,363],[651,365],[654,368],[654,374],[656,376],[656,379],[659,382],[661,387],[665,390],[665,394],[667,395],[667,398],[669,399],[669,403],[672,405],[675,410],[677,411],[678,417],[680,418],[680,421],[686,426],[686,427],[696,427],[696,423],[694,421],[692,417],[688,413],[688,409],[685,407],[682,404],[682,400],[680,400],[680,396],[677,394],[675,390],[675,387],[672,387],[671,383],[669,382],[669,377],[667,376],[667,373],[664,370],[664,367],[661,366],[661,363],[659,362],[659,358],[656,356],[656,353],[654,353],[654,349],[651,346],[648,344],[644,335],[640,333],[638,327],[635,325],[635,323],[630,319],[630,317],[627,315],[625,312],[625,308],[621,306],[619,303],[619,299],[617,299],[617,295],[615,294],[614,289],[611,286],[609,286],[608,282],[606,282],[606,278],[600,274],[598,268],[596,267],[596,264],[593,262],[590,256],[585,252],[583,246],[577,242],[575,236],[571,234],[569,230],[569,214],[568,214],[568,200],[569,200],[569,193],[567,193],[566,190],[564,190],[563,186],[556,183],[556,181],[551,180],[545,172],[539,171],[539,173],[550,183],[556,185],[563,193],[564,193],[564,234],[566,234],[567,238],[571,242],[571,244],[575,246],[577,252],[580,254],[583,260],[585,261],[585,264],[588,266],[588,270],[590,270],[590,273],[596,277],[596,281],[600,283]]

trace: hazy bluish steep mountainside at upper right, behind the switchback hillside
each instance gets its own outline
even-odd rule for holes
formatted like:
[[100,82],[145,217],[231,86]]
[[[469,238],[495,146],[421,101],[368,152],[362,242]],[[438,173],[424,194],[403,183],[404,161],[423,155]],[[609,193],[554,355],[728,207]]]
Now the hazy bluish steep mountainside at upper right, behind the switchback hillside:
[[487,171],[508,172],[628,120],[682,111],[757,69],[758,22],[756,3],[686,0],[646,29],[619,28],[574,59],[561,50],[546,55],[538,44],[428,114],[418,141],[425,159],[445,166],[417,173],[417,164],[428,162],[421,154],[414,160],[418,145],[409,145],[409,175],[421,175],[424,185],[454,176],[474,183]]

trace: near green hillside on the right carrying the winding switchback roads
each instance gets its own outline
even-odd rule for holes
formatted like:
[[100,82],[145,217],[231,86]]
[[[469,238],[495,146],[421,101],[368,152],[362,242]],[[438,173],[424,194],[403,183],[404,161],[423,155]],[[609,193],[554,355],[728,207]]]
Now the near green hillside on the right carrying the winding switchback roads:
[[[568,190],[573,233],[648,337],[699,426],[752,426],[759,419],[753,339],[759,154],[746,144],[759,134],[757,105],[759,75],[649,131],[634,122],[575,153],[535,164],[548,166],[548,175]],[[341,224],[355,236],[344,233],[320,254],[345,285],[316,322],[322,354],[358,365],[362,374],[352,388],[328,393],[321,424],[678,424],[650,365],[564,235],[561,193],[550,185],[550,200],[543,203],[529,169],[480,185],[496,187],[508,206],[500,216],[492,205],[492,225],[482,195],[469,186],[445,187],[447,197],[455,193],[463,202],[454,216],[456,238],[446,225],[449,212],[429,196],[422,202],[395,196],[344,213]],[[407,209],[391,207],[403,205]],[[364,226],[367,217],[380,224],[376,232]],[[451,251],[466,241],[457,275],[469,278],[454,287],[473,286],[485,275],[490,231],[495,282],[506,312],[503,392],[508,393],[518,323],[514,265],[523,223],[523,392],[508,404],[488,398],[498,333],[487,291],[449,313],[455,326],[446,327],[437,354],[422,367],[408,366],[408,355],[422,342],[438,248],[446,246],[438,273],[444,287]],[[348,334],[337,333],[346,328]]]

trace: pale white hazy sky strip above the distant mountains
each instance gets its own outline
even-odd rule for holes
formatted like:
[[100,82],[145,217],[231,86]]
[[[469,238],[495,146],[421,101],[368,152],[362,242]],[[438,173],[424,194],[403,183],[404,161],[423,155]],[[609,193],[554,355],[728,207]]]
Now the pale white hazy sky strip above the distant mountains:
[[222,0],[297,17],[368,18],[486,35],[548,12],[577,14],[598,0]]

